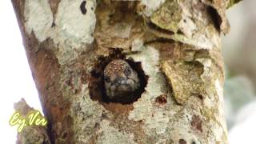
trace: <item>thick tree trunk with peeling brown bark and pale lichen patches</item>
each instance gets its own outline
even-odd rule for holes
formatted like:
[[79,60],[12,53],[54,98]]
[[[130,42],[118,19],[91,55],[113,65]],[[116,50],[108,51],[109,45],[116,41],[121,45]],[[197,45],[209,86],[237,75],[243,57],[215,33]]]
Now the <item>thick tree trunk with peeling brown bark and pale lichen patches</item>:
[[[238,1],[12,2],[51,143],[228,143],[220,34]],[[126,104],[102,86],[115,58],[142,82]]]

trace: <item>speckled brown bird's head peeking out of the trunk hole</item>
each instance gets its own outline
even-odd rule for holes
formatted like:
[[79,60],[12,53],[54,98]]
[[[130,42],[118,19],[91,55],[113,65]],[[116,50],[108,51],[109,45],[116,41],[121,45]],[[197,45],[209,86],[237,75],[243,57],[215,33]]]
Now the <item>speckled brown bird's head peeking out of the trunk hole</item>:
[[123,59],[114,59],[104,69],[106,96],[110,99],[129,100],[140,87],[138,73]]

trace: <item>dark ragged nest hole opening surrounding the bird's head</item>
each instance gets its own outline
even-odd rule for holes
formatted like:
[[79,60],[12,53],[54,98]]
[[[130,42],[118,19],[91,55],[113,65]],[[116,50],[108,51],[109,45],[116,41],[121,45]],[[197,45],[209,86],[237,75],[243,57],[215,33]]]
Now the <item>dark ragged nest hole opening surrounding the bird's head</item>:
[[[128,62],[131,68],[137,72],[138,78],[140,79],[140,87],[135,90],[129,98],[110,99],[106,96],[103,71],[106,65],[114,59],[122,59]],[[126,59],[126,57],[121,53],[120,50],[114,49],[110,53],[109,57],[100,57],[98,58],[98,61],[94,64],[94,68],[91,71],[89,78],[90,98],[98,102],[130,104],[136,102],[138,98],[141,97],[141,94],[145,91],[147,80],[148,76],[146,76],[144,71],[142,70],[141,62],[134,62],[134,60],[131,58]]]

